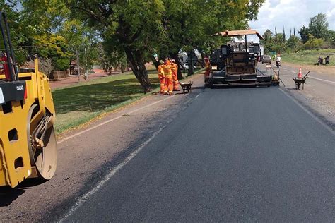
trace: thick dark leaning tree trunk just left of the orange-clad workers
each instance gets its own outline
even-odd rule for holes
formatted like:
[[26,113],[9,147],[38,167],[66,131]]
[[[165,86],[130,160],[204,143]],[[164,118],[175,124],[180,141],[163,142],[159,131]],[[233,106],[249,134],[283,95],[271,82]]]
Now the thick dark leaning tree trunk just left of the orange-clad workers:
[[133,71],[137,80],[139,80],[144,92],[150,92],[151,83],[148,78],[148,71],[146,71],[141,52],[139,50],[131,50],[129,47],[124,47],[124,52],[126,52],[127,61],[131,71]]

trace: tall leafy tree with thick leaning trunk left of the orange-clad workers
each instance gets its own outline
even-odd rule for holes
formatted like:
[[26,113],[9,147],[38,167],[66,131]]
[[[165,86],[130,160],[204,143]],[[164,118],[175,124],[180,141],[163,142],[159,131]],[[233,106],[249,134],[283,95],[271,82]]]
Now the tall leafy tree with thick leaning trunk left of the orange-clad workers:
[[68,6],[75,17],[96,28],[104,42],[113,46],[110,52],[124,52],[134,75],[143,89],[149,92],[151,83],[146,71],[146,60],[164,35],[159,0],[153,1],[75,1]]

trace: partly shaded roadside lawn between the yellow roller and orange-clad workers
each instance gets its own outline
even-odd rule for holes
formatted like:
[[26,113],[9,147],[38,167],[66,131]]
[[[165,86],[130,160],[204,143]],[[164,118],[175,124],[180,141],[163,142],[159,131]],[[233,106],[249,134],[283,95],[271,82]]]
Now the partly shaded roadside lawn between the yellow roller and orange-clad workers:
[[[155,71],[149,71],[152,89],[158,88]],[[57,133],[74,128],[108,111],[145,96],[133,73],[90,80],[52,92],[56,109]]]

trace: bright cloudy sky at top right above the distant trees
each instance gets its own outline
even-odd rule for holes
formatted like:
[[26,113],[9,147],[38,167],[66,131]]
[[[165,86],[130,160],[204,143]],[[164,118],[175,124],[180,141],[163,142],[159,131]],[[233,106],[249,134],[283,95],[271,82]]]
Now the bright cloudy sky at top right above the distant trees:
[[335,30],[335,0],[266,0],[259,9],[258,19],[249,22],[249,27],[263,35],[267,29],[274,32],[275,27],[278,33],[283,33],[284,26],[287,37],[290,29],[293,34],[293,28],[298,35],[300,27],[308,27],[310,18],[318,13],[326,14],[329,29]]

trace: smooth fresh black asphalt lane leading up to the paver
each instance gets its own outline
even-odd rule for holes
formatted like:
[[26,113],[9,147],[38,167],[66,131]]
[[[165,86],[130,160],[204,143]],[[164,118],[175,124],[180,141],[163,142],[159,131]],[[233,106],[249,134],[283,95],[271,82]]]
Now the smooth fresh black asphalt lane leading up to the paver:
[[206,89],[69,222],[335,218],[334,132],[280,88]]

